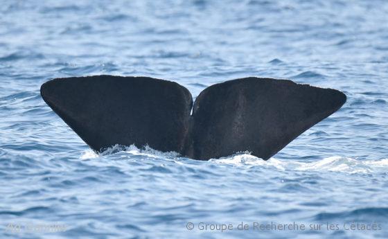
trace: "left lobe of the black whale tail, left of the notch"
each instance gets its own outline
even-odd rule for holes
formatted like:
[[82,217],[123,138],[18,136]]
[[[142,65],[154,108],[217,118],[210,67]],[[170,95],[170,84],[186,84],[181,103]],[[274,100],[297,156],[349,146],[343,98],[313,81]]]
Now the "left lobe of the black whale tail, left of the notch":
[[175,82],[91,76],[45,82],[42,98],[92,149],[150,145],[182,152],[193,100]]

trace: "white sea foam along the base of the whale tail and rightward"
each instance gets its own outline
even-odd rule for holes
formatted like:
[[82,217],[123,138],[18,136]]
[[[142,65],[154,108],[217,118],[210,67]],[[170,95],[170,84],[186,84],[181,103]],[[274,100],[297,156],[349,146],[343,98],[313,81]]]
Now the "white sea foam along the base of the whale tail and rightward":
[[[149,146],[139,149],[135,145],[130,145],[128,147],[114,145],[101,154],[96,154],[93,150],[87,150],[81,155],[80,159],[95,159],[100,156],[114,154],[116,152],[127,154],[121,155],[121,157],[143,156],[152,159],[164,159],[168,161],[173,160],[177,163],[182,163],[179,159],[183,159],[182,157],[179,157],[177,152],[161,152],[159,150],[154,150]],[[324,159],[317,159],[315,161],[308,162],[276,158],[264,161],[263,159],[245,152],[233,154],[229,157],[222,157],[220,159],[210,159],[209,162],[238,167],[276,168],[276,170],[331,171],[346,173],[370,173],[378,170],[388,170],[388,159],[353,159],[351,157],[340,156],[326,157]]]

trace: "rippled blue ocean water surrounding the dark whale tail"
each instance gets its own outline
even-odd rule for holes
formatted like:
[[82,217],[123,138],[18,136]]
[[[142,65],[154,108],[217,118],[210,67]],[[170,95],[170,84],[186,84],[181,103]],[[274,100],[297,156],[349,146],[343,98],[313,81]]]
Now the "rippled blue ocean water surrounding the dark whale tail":
[[[269,161],[98,155],[39,95],[98,74],[193,96],[288,78],[348,100]],[[0,238],[388,238],[387,100],[387,1],[3,0]]]

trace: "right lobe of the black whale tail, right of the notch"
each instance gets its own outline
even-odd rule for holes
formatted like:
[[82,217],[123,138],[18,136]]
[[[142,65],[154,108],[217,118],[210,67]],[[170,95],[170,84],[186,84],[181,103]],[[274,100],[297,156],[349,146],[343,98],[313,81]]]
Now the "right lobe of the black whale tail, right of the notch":
[[340,91],[291,80],[243,78],[212,85],[195,100],[186,153],[210,159],[248,151],[269,159],[345,102]]

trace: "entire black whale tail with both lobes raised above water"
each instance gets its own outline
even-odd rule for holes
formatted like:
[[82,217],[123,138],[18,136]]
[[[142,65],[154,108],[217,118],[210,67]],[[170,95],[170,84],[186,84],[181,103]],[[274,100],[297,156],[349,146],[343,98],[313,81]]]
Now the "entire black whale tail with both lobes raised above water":
[[335,89],[254,77],[212,85],[194,106],[185,87],[148,77],[58,78],[40,91],[97,152],[149,145],[200,160],[245,151],[267,160],[346,102]]

